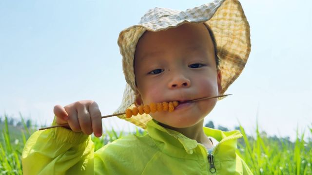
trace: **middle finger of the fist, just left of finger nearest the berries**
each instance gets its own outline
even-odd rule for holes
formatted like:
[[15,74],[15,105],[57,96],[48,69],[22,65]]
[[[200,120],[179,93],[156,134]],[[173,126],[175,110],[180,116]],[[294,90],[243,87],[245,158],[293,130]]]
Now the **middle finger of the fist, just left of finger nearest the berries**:
[[92,134],[92,126],[91,126],[91,119],[90,114],[85,105],[78,105],[78,122],[81,128],[81,131],[86,134]]

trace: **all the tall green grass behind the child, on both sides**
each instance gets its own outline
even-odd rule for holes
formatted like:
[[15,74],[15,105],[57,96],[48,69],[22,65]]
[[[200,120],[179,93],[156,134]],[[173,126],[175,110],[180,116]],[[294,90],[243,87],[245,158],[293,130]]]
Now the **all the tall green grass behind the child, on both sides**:
[[[21,152],[26,140],[35,132],[35,126],[27,127],[23,117],[20,118],[22,127],[9,125],[6,115],[4,123],[0,123],[0,174],[22,175]],[[259,132],[258,125],[255,137],[251,137],[242,126],[239,128],[243,138],[238,140],[237,154],[254,175],[312,175],[312,138],[305,141],[304,133],[299,134],[298,131],[295,142],[267,137]],[[312,128],[309,128],[309,133],[312,136]],[[146,131],[137,129],[135,133],[125,133],[105,128],[102,137],[92,137],[95,150],[128,134],[144,135]]]

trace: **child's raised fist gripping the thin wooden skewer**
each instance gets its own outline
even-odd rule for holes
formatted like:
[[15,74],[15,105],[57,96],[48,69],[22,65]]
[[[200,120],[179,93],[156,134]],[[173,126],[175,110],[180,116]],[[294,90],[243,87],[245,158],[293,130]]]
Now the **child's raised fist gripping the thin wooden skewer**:
[[83,132],[86,135],[94,133],[96,137],[102,135],[102,118],[98,104],[92,100],[82,100],[65,107],[54,106],[56,123],[68,123],[74,132]]

